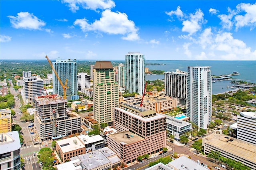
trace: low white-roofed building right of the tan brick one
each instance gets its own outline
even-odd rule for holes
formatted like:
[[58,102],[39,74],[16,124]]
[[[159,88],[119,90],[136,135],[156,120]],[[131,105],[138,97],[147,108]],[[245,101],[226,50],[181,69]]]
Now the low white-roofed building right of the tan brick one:
[[98,150],[100,148],[104,148],[104,145],[105,145],[104,138],[102,138],[99,134],[95,136],[80,135],[77,137],[85,146],[86,153],[92,152],[94,150]]

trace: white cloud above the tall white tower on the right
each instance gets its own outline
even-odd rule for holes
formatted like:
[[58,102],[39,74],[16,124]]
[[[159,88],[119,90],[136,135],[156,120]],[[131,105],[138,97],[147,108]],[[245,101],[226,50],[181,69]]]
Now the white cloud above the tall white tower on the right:
[[189,35],[194,34],[201,29],[201,25],[204,23],[204,14],[198,9],[194,14],[189,15],[189,20],[183,21],[182,32],[188,32]]

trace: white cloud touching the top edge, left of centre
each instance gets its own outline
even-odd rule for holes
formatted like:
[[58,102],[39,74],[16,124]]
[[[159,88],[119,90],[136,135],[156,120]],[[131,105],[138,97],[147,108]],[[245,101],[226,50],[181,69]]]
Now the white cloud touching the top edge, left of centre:
[[72,12],[79,10],[79,6],[94,11],[97,9],[111,9],[116,6],[112,0],[62,0],[62,3],[67,3]]

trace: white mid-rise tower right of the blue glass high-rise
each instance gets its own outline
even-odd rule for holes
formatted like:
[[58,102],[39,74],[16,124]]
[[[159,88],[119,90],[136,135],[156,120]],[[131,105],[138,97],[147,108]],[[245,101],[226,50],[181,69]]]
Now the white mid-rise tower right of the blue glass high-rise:
[[76,86],[79,92],[82,92],[82,89],[90,88],[90,75],[87,73],[78,73],[78,75],[76,75]]

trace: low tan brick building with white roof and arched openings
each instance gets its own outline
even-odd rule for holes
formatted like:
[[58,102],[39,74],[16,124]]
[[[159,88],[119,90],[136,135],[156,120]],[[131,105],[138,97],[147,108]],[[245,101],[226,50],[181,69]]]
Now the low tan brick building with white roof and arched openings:
[[84,144],[77,137],[58,140],[56,142],[56,152],[62,162],[66,162],[74,156],[86,153]]

